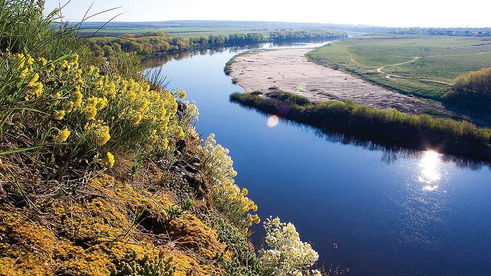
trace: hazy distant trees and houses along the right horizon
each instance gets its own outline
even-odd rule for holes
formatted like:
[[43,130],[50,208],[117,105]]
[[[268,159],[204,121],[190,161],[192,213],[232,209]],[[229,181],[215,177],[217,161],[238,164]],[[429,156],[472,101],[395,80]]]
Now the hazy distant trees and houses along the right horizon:
[[389,33],[433,34],[452,37],[490,37],[491,28],[393,28]]

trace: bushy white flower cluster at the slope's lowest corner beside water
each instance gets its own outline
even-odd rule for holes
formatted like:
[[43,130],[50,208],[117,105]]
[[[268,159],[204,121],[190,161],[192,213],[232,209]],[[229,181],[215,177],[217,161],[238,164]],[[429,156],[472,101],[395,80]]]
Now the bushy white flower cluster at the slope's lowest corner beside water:
[[310,244],[303,243],[291,222],[282,223],[279,218],[269,217],[264,222],[267,249],[259,251],[259,263],[270,268],[274,275],[281,276],[321,276],[319,270],[309,270],[319,254]]

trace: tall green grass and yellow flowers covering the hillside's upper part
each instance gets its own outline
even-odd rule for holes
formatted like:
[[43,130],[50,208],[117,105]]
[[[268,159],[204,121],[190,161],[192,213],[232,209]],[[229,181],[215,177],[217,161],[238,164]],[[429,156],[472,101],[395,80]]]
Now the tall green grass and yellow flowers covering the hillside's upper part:
[[79,25],[59,23],[59,10],[43,16],[43,1],[0,5],[2,178],[64,182],[163,156],[184,138],[185,92],[165,90],[159,72],[145,80],[138,56],[94,57]]

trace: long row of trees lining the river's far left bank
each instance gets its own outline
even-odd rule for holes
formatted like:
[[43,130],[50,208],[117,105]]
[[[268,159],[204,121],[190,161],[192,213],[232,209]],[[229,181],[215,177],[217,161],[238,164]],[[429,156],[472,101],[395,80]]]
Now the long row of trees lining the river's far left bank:
[[96,56],[112,57],[119,53],[136,53],[144,57],[169,53],[173,51],[205,49],[217,46],[255,44],[261,42],[310,41],[347,38],[344,31],[312,30],[312,31],[282,31],[264,33],[231,33],[228,36],[200,38],[172,38],[168,33],[157,31],[147,33],[126,34],[123,37],[105,37],[94,39],[91,50]]

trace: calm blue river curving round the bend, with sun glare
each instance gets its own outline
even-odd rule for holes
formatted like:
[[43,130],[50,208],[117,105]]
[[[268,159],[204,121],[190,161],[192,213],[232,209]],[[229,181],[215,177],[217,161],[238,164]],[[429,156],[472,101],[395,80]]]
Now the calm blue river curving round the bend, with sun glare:
[[[326,43],[326,42],[325,42]],[[164,64],[170,87],[196,100],[206,137],[230,149],[236,183],[249,189],[261,218],[291,221],[331,263],[350,275],[491,275],[491,170],[434,151],[373,145],[276,120],[230,103],[243,92],[223,73],[232,56],[264,44],[148,61]],[[253,235],[259,242],[261,229]]]

